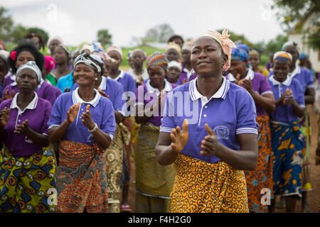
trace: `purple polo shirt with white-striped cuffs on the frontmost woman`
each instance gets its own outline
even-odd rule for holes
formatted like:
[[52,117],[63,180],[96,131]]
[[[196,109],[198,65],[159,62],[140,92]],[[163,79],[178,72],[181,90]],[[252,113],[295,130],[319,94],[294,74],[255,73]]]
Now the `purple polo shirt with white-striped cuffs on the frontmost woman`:
[[160,132],[171,133],[173,128],[182,128],[188,119],[188,143],[181,153],[198,160],[215,163],[215,156],[201,155],[201,141],[208,135],[205,123],[215,131],[221,144],[240,150],[237,135],[257,135],[255,102],[249,92],[223,77],[223,84],[209,100],[196,87],[197,79],[182,84],[169,93],[161,119]]

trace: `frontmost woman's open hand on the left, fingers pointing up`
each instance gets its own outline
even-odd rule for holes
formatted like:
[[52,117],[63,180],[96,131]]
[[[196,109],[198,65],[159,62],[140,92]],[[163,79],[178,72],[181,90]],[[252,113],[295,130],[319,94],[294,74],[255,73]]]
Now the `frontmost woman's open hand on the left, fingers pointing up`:
[[184,119],[182,123],[182,131],[179,126],[172,129],[170,134],[171,138],[171,148],[176,153],[181,153],[186,143],[188,143],[189,132],[188,132],[188,120]]

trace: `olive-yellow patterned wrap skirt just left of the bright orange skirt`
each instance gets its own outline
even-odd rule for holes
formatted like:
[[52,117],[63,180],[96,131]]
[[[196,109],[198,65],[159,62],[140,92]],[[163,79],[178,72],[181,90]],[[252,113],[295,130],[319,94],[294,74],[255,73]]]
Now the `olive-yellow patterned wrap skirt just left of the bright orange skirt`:
[[[151,196],[161,198],[159,200],[140,199],[141,203],[144,201],[156,201],[163,204],[149,204],[150,206],[166,207],[164,210],[157,210],[157,212],[170,212],[170,206],[166,206],[169,200],[170,193],[174,185],[174,176],[176,175],[172,165],[159,165],[156,161],[156,143],[159,137],[159,127],[152,123],[143,123],[139,128],[138,144],[136,152],[136,189],[137,193],[143,196]],[[141,196],[137,196],[140,198]],[[137,212],[151,212],[151,210],[139,210],[139,201],[136,200]],[[138,209],[137,209],[138,208]]]

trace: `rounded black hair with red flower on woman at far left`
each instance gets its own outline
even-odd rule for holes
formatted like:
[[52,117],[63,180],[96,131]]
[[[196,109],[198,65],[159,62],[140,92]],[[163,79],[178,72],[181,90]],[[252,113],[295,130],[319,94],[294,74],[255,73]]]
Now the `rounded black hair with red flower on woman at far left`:
[[38,65],[39,69],[42,71],[45,59],[43,57],[43,54],[36,48],[36,46],[31,41],[24,40],[23,42],[19,43],[14,50],[10,52],[10,55],[8,57],[8,66],[11,69],[14,74],[16,74],[16,59],[13,60],[10,56],[11,53],[16,51],[16,59],[18,58],[18,55],[23,51],[28,51],[33,55],[34,60],[36,62],[36,65]]

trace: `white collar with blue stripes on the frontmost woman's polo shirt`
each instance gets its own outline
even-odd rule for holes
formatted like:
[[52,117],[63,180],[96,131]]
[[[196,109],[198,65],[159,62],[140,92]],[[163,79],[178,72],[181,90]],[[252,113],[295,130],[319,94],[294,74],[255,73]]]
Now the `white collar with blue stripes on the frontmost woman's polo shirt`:
[[[225,96],[227,95],[230,88],[230,82],[228,81],[228,79],[225,79],[225,77],[222,77],[222,78],[223,78],[223,84],[221,84],[218,91],[215,92],[215,94],[213,94],[213,96],[211,96],[210,99],[212,98],[225,99]],[[201,101],[203,101],[203,99],[206,99],[206,101],[208,101],[206,96],[203,96],[198,92],[198,89],[196,87],[197,80],[198,80],[198,77],[196,79],[191,80],[189,84],[189,91],[191,94],[192,101],[195,101],[196,99],[201,99]]]

